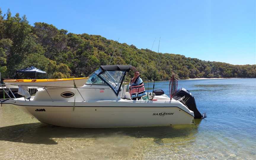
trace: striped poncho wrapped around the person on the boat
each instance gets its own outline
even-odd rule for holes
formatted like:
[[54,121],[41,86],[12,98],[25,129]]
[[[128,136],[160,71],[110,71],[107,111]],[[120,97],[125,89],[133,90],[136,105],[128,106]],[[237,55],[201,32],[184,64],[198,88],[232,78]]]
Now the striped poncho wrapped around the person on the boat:
[[145,87],[140,76],[135,79],[134,83],[132,83],[131,80],[129,86],[131,87],[129,91],[131,98],[141,97],[146,94]]

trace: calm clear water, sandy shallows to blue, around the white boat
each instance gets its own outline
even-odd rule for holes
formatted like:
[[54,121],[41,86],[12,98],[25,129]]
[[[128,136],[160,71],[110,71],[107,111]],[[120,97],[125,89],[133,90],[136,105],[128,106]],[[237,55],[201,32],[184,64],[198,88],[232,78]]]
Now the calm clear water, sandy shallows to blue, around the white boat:
[[[168,93],[168,85],[157,82],[155,88]],[[256,159],[256,79],[180,80],[178,85],[191,91],[199,111],[207,112],[205,120],[76,129],[0,107],[0,159]]]

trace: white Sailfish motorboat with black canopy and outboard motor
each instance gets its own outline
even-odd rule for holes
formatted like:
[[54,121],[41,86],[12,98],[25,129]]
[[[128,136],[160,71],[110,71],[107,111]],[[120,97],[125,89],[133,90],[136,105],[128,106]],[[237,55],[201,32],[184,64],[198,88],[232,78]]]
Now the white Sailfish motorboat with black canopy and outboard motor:
[[172,99],[157,92],[131,100],[124,85],[130,68],[100,66],[81,87],[45,87],[30,100],[22,97],[1,103],[20,108],[42,123],[74,128],[188,125],[202,117],[193,96],[183,88]]

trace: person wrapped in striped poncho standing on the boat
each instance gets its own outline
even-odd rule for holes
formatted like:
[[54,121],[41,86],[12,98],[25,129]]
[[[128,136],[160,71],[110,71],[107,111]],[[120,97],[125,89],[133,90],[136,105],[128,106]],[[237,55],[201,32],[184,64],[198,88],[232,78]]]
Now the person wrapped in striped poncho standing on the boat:
[[135,71],[134,77],[129,84],[129,93],[132,100],[141,99],[146,94],[142,79],[140,78],[140,71]]

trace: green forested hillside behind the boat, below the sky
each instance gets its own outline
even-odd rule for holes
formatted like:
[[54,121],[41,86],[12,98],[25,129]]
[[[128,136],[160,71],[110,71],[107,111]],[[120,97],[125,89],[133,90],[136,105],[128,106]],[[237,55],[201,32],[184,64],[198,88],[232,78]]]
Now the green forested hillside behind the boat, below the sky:
[[[85,31],[86,32],[86,31]],[[232,65],[202,61],[184,55],[156,53],[134,45],[107,40],[100,35],[68,33],[67,30],[36,22],[0,10],[0,72],[12,78],[17,69],[35,66],[48,73],[48,78],[89,76],[100,65],[132,64],[143,79],[169,80],[174,73],[179,79],[241,77],[256,78],[256,65]],[[241,53],[242,55],[242,53]],[[129,77],[132,76],[129,73]]]

